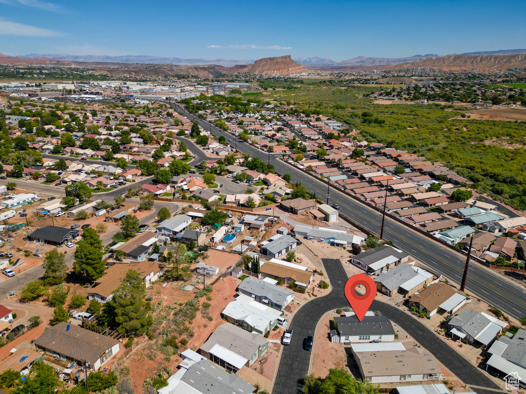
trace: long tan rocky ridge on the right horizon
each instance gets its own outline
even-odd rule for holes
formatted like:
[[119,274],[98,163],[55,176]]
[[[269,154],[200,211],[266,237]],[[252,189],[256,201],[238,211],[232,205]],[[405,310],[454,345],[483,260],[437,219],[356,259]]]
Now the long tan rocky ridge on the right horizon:
[[430,58],[420,61],[411,61],[386,69],[403,68],[441,68],[444,71],[467,70],[505,70],[509,68],[526,67],[526,54],[514,55],[449,55],[438,59]]

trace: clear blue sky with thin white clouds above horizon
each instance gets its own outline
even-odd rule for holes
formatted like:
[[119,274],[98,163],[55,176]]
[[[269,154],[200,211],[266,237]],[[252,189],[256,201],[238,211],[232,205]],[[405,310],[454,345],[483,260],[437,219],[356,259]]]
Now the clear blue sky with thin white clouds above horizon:
[[526,2],[0,0],[6,55],[405,57],[526,48]]

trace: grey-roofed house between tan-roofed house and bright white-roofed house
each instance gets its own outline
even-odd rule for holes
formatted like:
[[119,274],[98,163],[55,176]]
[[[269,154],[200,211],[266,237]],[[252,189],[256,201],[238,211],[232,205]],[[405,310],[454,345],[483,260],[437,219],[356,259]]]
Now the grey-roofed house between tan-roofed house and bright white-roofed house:
[[237,287],[240,294],[252,297],[257,302],[283,310],[294,301],[294,292],[275,284],[248,276]]

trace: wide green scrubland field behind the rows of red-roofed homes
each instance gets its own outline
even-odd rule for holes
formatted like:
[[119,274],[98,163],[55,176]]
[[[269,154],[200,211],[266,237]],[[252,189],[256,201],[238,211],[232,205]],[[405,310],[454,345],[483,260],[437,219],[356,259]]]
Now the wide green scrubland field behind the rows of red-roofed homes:
[[[479,192],[492,192],[526,209],[526,122],[460,118],[456,108],[439,104],[377,105],[367,98],[379,90],[377,85],[327,85],[306,80],[266,98],[345,122],[370,142],[440,161],[474,182]],[[372,117],[363,117],[363,112]]]

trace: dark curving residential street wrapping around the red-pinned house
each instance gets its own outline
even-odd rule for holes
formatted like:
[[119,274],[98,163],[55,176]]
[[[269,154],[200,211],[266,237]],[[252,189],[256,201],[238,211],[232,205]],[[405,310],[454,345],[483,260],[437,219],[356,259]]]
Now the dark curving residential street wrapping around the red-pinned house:
[[[322,262],[330,279],[332,291],[326,296],[310,300],[292,318],[289,328],[294,330],[294,334],[290,345],[284,346],[281,352],[281,361],[272,391],[273,394],[292,394],[303,391],[303,379],[309,370],[311,358],[311,352],[303,349],[303,340],[308,335],[315,336],[316,325],[323,314],[329,310],[349,306],[343,293],[347,274],[341,262],[330,258],[322,258]],[[398,308],[379,301],[373,302],[370,309],[380,310],[383,316],[387,316],[392,322],[406,330],[414,340],[430,350],[446,368],[464,383],[490,389],[499,388],[483,372],[471,365],[417,319],[408,317]],[[320,327],[320,329],[325,328]],[[474,391],[479,394],[490,394],[492,392],[479,388],[475,388]]]

